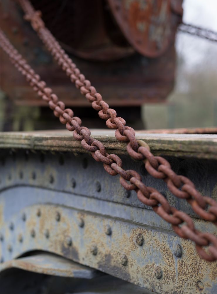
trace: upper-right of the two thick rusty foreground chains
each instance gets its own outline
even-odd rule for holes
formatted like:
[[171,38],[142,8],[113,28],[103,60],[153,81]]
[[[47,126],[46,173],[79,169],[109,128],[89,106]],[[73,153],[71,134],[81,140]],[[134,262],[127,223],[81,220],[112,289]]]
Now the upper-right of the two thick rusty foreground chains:
[[[80,89],[80,92],[92,103],[92,107],[99,112],[99,116],[106,120],[108,128],[116,129],[115,136],[119,141],[129,142],[127,145],[128,154],[135,160],[143,160],[145,168],[151,176],[163,179],[169,190],[175,196],[185,198],[188,203],[191,204],[195,213],[201,218],[212,221],[217,225],[216,201],[212,200],[210,197],[203,197],[196,190],[192,181],[172,171],[166,159],[153,156],[150,150],[146,148],[147,146],[140,146],[138,140],[135,138],[135,131],[133,128],[125,126],[126,121],[118,117],[116,111],[109,108],[109,105],[102,100],[101,94],[97,93],[96,89],[91,86],[91,82],[80,73],[72,59],[69,58],[60,44],[55,40],[54,36],[45,27],[41,19],[40,11],[35,11],[28,0],[18,0],[18,2],[25,12],[24,18],[31,22],[33,29],[37,31],[38,36],[51,52],[57,63],[66,72],[67,76],[70,77],[71,81],[75,83],[76,87]],[[124,187],[129,189],[127,184],[125,184]],[[207,205],[211,206],[208,212],[205,210]]]

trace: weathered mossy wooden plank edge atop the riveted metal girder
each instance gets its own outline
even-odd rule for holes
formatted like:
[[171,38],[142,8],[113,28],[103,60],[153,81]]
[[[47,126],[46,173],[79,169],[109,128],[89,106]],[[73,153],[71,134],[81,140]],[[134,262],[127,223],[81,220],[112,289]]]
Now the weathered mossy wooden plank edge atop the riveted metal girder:
[[[118,142],[113,130],[91,129],[91,135],[94,139],[104,143],[108,153],[127,154],[126,143]],[[148,143],[155,155],[217,159],[216,135],[136,131],[136,138]],[[87,153],[72,134],[65,130],[0,132],[0,148]]]

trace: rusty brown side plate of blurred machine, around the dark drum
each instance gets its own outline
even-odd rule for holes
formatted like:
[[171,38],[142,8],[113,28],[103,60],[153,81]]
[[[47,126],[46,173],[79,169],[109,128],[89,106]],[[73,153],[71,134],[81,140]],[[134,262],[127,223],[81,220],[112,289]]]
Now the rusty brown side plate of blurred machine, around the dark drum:
[[[56,1],[52,1],[54,2]],[[44,1],[37,1],[37,3],[41,5]],[[91,18],[91,21],[94,19]],[[73,20],[71,15],[69,20]],[[47,24],[46,21],[45,23]],[[81,99],[77,89],[70,85],[65,74],[52,62],[52,58],[43,49],[41,41],[30,26],[23,21],[23,16],[15,1],[1,1],[0,26],[26,60],[34,66],[38,74],[47,81],[49,80],[49,85],[66,105],[89,106],[85,99]],[[75,26],[72,27],[75,28]],[[65,28],[62,28],[61,32],[64,31]],[[26,86],[24,79],[13,72],[13,66],[3,58],[1,53],[0,58],[1,88],[11,100],[22,106],[45,106],[45,103],[40,101]],[[73,60],[87,77],[91,76],[97,90],[103,93],[104,98],[111,105],[123,107],[139,106],[148,101],[162,102],[173,88],[175,70],[173,44],[164,56],[156,60],[150,60],[138,54],[109,63],[87,62],[76,56],[73,56]],[[6,78],[7,76],[10,76],[10,79]]]

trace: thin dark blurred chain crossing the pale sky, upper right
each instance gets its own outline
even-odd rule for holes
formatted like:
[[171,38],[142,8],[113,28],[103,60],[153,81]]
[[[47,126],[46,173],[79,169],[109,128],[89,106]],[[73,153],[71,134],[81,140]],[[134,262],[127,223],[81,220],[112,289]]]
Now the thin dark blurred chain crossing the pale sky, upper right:
[[190,34],[193,36],[198,36],[202,39],[207,39],[212,42],[217,42],[217,33],[209,30],[201,28],[200,26],[194,26],[192,24],[180,24],[178,26],[178,31],[186,34]]

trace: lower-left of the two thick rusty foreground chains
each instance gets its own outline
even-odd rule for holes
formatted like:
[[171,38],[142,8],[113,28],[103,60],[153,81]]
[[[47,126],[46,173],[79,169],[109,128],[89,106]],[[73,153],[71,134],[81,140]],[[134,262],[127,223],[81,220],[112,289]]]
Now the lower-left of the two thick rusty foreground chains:
[[[71,109],[65,108],[65,104],[59,101],[55,93],[51,88],[46,86],[46,83],[40,79],[40,76],[35,73],[33,69],[27,64],[26,60],[22,58],[21,54],[11,45],[4,33],[0,29],[0,47],[9,55],[11,62],[20,71],[26,80],[29,82],[33,90],[38,93],[44,101],[46,101],[49,107],[53,110],[54,115],[60,119],[60,122],[66,124],[66,128],[69,131],[73,131],[73,136],[76,140],[81,141],[82,146],[91,151],[92,156],[96,161],[104,163],[105,170],[112,176],[120,175],[120,183],[127,190],[135,190],[137,192],[138,199],[148,205],[152,206],[155,213],[157,213],[164,220],[172,224],[172,228],[182,238],[192,240],[196,243],[196,250],[202,258],[208,261],[217,260],[217,238],[211,233],[201,233],[196,230],[193,220],[190,216],[182,211],[178,211],[176,208],[169,205],[166,198],[160,194],[156,189],[145,186],[141,181],[140,175],[134,170],[125,171],[122,168],[121,158],[115,154],[106,153],[104,145],[90,137],[91,132],[87,127],[81,126],[82,121],[80,118],[75,117]],[[141,140],[137,141],[140,145],[139,148],[141,154],[149,159],[147,162],[152,162],[152,156],[150,155],[149,146]],[[138,148],[138,149],[139,149]],[[163,158],[157,158],[157,162],[162,163]],[[162,165],[162,164],[161,164]],[[150,165],[151,166],[151,165]],[[156,170],[155,170],[156,171]],[[158,171],[162,173],[162,171]],[[130,183],[127,183],[129,181]],[[182,181],[187,181],[182,179]],[[186,183],[185,185],[188,185]],[[191,186],[187,186],[191,187]],[[186,191],[188,188],[186,188]],[[207,199],[206,199],[207,198]],[[206,202],[215,202],[211,198],[206,197]],[[211,201],[211,202],[210,202]],[[212,206],[211,208],[213,208]],[[186,223],[179,226],[180,224]],[[203,246],[209,245],[209,253],[207,254]]]

